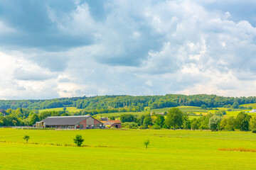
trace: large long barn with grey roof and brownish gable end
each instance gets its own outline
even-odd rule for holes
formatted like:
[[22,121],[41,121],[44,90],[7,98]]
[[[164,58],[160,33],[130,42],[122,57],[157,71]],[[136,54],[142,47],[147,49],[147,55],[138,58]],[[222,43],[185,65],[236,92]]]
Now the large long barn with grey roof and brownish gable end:
[[34,125],[36,128],[56,129],[98,129],[104,128],[103,123],[90,115],[53,116]]

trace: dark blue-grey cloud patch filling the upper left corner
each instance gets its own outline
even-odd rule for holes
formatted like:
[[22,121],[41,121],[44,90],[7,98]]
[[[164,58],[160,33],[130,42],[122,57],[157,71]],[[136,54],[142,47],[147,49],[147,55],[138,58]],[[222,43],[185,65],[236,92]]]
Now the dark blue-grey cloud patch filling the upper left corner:
[[1,46],[54,51],[92,44],[94,37],[90,33],[82,37],[63,33],[49,16],[49,8],[61,17],[74,11],[78,5],[75,1],[0,1],[0,21],[16,30],[1,36]]

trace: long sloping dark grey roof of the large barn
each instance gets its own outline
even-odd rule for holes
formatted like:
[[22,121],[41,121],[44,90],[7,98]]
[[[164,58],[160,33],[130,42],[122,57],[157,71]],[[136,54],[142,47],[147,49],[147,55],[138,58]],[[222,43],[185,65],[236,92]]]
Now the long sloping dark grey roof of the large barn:
[[77,125],[89,118],[90,115],[74,115],[74,116],[53,116],[42,120],[46,125]]

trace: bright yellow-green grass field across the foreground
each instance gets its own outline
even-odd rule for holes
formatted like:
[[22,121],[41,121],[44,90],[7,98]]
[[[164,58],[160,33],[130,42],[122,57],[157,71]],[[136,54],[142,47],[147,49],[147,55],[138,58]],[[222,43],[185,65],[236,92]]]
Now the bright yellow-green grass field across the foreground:
[[[87,147],[73,144],[75,135]],[[30,135],[28,144],[23,135]],[[150,140],[145,149],[144,140]],[[0,169],[255,169],[252,132],[0,129]],[[5,142],[3,142],[5,141]],[[34,143],[34,144],[32,144]],[[37,143],[37,144],[35,144]],[[60,146],[57,146],[60,145]]]

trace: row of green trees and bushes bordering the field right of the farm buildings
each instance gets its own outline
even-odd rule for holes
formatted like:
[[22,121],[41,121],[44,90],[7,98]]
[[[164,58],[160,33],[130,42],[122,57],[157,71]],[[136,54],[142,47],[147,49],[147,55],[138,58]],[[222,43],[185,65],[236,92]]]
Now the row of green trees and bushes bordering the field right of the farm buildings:
[[124,128],[182,128],[192,130],[256,130],[256,117],[240,112],[236,118],[225,117],[223,112],[203,115],[200,118],[188,119],[186,113],[178,108],[171,108],[166,117],[164,115],[121,115],[120,120]]

